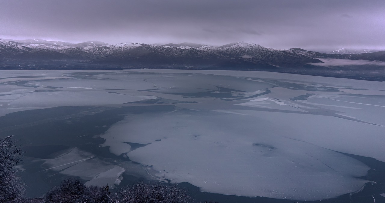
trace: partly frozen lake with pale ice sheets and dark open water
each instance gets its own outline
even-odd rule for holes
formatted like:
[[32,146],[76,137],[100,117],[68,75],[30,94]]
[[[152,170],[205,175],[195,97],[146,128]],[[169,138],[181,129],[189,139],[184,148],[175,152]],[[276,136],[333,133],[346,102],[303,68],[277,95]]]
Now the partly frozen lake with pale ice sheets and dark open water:
[[199,70],[2,71],[1,137],[39,196],[60,178],[140,178],[201,191],[323,200],[385,162],[385,83]]

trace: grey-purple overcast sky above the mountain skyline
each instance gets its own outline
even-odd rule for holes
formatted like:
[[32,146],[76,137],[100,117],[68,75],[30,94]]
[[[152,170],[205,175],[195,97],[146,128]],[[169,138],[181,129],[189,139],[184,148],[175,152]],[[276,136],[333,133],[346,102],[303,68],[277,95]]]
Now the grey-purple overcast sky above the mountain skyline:
[[385,49],[384,0],[0,0],[0,38]]

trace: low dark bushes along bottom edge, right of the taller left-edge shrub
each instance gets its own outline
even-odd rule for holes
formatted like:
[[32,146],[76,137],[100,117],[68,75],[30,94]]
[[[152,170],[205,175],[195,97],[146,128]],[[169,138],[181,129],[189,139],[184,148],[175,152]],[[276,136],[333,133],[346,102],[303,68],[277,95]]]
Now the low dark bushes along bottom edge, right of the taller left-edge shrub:
[[43,202],[74,203],[188,203],[192,198],[184,188],[160,183],[138,182],[112,193],[109,187],[87,186],[79,180],[64,180],[60,187],[48,191]]

